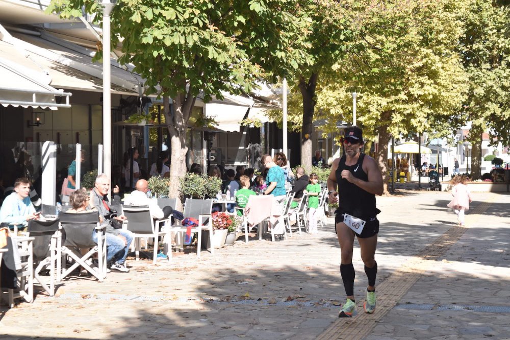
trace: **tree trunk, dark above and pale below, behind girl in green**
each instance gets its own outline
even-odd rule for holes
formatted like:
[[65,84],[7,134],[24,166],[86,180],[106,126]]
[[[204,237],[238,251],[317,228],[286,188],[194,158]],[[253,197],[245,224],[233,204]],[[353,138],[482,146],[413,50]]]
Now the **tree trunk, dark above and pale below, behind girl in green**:
[[299,77],[299,90],[303,97],[303,126],[301,128],[301,166],[307,174],[310,174],[312,169],[312,135],[313,135],[313,122],[315,104],[315,89],[317,87],[317,73],[310,76],[308,82],[302,77]]

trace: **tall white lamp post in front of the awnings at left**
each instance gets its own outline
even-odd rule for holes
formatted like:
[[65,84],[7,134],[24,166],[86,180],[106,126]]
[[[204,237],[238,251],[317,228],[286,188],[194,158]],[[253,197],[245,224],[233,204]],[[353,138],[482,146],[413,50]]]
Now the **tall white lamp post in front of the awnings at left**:
[[[103,173],[111,178],[112,172],[112,113],[110,80],[110,14],[116,0],[101,0],[103,7]],[[111,199],[111,192],[108,192]]]

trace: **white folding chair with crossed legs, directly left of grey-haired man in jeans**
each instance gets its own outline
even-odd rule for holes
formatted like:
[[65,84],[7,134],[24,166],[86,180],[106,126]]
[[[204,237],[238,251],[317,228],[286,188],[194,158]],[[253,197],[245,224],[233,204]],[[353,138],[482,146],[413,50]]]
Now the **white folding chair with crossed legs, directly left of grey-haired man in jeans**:
[[[62,281],[72,271],[82,266],[99,282],[102,282],[106,277],[106,225],[99,224],[99,213],[97,211],[61,212],[59,218],[57,280]],[[94,231],[97,233],[97,244],[92,238]],[[90,250],[82,255],[80,249],[83,248]],[[98,264],[93,268],[94,254],[97,254]],[[66,256],[74,260],[69,268],[66,268]]]

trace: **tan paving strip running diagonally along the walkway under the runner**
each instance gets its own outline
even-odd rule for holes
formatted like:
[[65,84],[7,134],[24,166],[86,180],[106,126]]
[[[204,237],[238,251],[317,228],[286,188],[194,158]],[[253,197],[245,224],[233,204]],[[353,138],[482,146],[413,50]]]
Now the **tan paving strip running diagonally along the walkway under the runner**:
[[468,210],[466,215],[466,227],[455,226],[448,229],[430,245],[425,247],[419,254],[390,275],[377,286],[377,308],[374,314],[363,311],[363,305],[358,303],[360,314],[352,319],[339,318],[331,324],[317,339],[363,339],[370,334],[377,322],[393,309],[407,291],[418,281],[423,273],[433,265],[437,258],[443,256],[448,249],[457,242],[468,226],[478,221],[481,214],[496,201],[496,195],[489,196],[488,201],[478,204],[474,209]]

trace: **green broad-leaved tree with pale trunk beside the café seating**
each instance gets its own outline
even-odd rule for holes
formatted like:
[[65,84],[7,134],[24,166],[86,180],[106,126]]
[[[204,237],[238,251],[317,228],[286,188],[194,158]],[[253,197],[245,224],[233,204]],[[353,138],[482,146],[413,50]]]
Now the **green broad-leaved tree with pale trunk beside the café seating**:
[[[170,197],[186,173],[187,123],[198,95],[250,93],[260,77],[285,76],[309,62],[303,48],[309,20],[296,1],[121,0],[111,14],[112,44],[121,63],[146,79],[145,94],[163,98],[171,139]],[[94,0],[53,0],[62,17],[98,14]],[[170,111],[169,101],[174,110]]]

